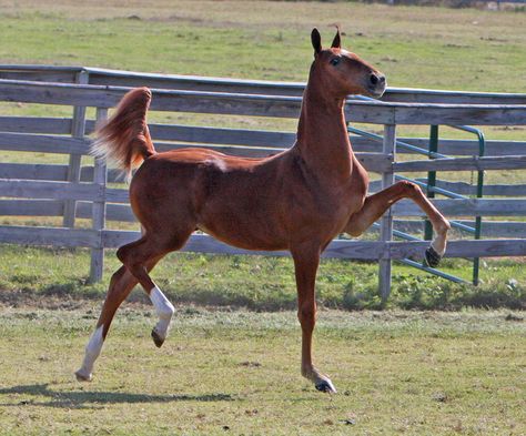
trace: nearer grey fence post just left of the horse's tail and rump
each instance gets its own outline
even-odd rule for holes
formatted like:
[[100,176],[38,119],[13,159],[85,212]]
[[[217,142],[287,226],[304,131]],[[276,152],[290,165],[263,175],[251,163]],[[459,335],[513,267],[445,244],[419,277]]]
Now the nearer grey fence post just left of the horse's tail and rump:
[[[108,109],[97,108],[97,122],[101,122],[108,118]],[[105,187],[108,181],[108,170],[105,160],[102,158],[94,159],[93,183],[103,186],[104,197],[102,201],[92,203],[92,229],[99,232],[99,246],[91,250],[90,283],[100,282],[102,280],[102,271],[104,266],[104,245],[102,241],[102,230],[105,225]]]

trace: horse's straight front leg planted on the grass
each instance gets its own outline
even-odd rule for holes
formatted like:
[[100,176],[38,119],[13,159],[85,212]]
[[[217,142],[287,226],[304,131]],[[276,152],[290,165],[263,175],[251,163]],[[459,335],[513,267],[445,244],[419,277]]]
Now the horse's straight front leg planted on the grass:
[[312,362],[312,333],[316,324],[315,284],[320,264],[320,245],[304,244],[292,250],[297,286],[297,317],[302,326],[302,375],[314,383],[316,389],[336,393],[331,379],[321,374]]

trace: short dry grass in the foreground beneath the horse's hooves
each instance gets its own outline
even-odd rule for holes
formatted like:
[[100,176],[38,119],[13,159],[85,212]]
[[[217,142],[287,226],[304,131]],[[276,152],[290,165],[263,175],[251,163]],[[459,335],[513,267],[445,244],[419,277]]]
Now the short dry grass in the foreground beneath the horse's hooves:
[[80,385],[72,372],[97,313],[89,303],[0,312],[0,434],[526,432],[524,314],[324,311],[315,346],[340,389],[330,397],[299,374],[294,313],[189,306],[156,349],[152,313],[129,305],[95,379]]

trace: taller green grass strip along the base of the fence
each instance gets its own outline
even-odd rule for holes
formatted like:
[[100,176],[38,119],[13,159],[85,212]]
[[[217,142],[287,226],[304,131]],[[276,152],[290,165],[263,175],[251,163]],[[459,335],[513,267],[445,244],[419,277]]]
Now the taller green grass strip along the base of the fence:
[[[23,305],[42,297],[101,301],[111,274],[120,266],[108,251],[104,280],[88,285],[87,250],[33,249],[3,245],[0,252],[0,301]],[[467,261],[446,260],[444,271],[471,280]],[[323,307],[381,308],[376,263],[324,260],[317,275],[317,301]],[[296,290],[292,260],[266,256],[218,256],[174,253],[152,277],[175,303],[292,310]],[[396,264],[387,307],[458,310],[464,306],[526,308],[524,262],[483,261],[482,284],[458,285]],[[138,288],[132,301],[146,302]]]

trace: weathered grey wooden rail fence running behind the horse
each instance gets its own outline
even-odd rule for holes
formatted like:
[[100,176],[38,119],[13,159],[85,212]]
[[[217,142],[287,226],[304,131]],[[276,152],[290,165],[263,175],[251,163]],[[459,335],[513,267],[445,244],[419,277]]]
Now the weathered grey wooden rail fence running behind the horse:
[[[107,221],[134,221],[128,205],[128,190],[114,184],[118,182],[115,171],[108,171],[100,160],[94,160],[93,165],[81,165],[91,143],[88,134],[95,123],[87,118],[87,109],[95,108],[97,119],[103,120],[108,116],[108,109],[117,104],[129,87],[134,85],[155,88],[153,111],[290,119],[299,116],[300,95],[304,87],[302,83],[139,74],[100,69],[0,65],[0,101],[73,107],[72,118],[0,116],[0,150],[69,155],[68,164],[0,163],[0,197],[3,199],[0,200],[0,215],[63,217],[61,227],[1,225],[0,242],[90,247],[90,278],[98,281],[102,276],[103,250],[139,237],[138,232],[107,229]],[[478,143],[472,140],[439,141],[441,153],[455,155],[454,159],[407,161],[404,156],[403,161],[398,161],[397,154],[407,153],[407,150],[396,149],[396,128],[403,124],[525,125],[525,94],[391,89],[383,102],[350,101],[345,115],[350,122],[383,125],[382,142],[352,135],[358,159],[368,171],[380,174],[380,179],[372,183],[372,191],[392,184],[398,172],[526,169],[526,142],[487,141],[484,158],[474,158]],[[262,156],[294,142],[294,133],[291,132],[172,124],[151,124],[150,128],[155,148],[160,151],[191,144],[239,155]],[[424,148],[428,142],[423,138],[402,140]],[[437,186],[464,195],[472,195],[475,190],[466,182],[438,181]],[[485,194],[492,197],[436,199],[433,202],[448,217],[459,217],[467,224],[474,216],[526,215],[526,184],[487,185]],[[391,287],[392,260],[422,257],[428,245],[428,242],[421,241],[392,241],[393,226],[399,224],[412,231],[417,230],[422,221],[408,221],[407,217],[422,215],[413,203],[399,202],[382,219],[380,241],[335,240],[324,255],[380,261],[380,286],[386,297]],[[75,225],[75,219],[91,219],[91,229],[80,229]],[[483,236],[492,239],[452,241],[447,256],[526,255],[525,235],[524,222],[487,221],[483,225]],[[194,234],[184,250],[286,254],[246,252],[202,234]]]

